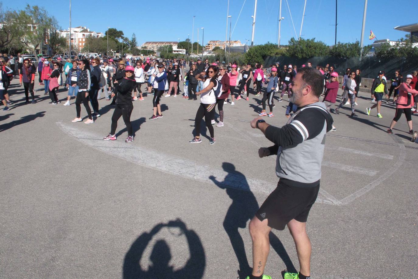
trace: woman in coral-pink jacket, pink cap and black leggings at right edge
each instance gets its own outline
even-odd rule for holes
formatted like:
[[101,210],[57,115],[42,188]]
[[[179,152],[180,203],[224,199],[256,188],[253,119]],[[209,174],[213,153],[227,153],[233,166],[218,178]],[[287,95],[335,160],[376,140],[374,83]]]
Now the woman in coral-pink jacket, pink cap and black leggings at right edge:
[[408,74],[406,76],[405,82],[400,84],[398,99],[396,99],[395,117],[393,118],[392,123],[390,123],[389,129],[387,129],[387,133],[393,133],[392,129],[398,122],[402,112],[405,113],[406,121],[408,122],[409,134],[412,135],[414,132],[412,130],[411,105],[414,103],[414,98],[412,95],[418,95],[418,91],[413,90],[410,86],[412,78],[412,75]]

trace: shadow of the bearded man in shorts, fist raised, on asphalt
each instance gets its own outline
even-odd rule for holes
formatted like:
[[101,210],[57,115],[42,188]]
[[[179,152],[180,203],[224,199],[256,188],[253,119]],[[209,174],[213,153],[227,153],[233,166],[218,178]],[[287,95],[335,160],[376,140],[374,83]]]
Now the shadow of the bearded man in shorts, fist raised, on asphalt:
[[[259,206],[254,194],[250,190],[245,175],[235,170],[235,166],[231,163],[222,163],[222,168],[224,171],[228,172],[223,182],[218,181],[214,176],[210,176],[209,179],[211,179],[219,188],[226,189],[228,196],[232,200],[232,204],[229,206],[227,214],[225,215],[223,226],[225,232],[228,234],[229,241],[231,242],[240,266],[238,274],[240,278],[245,278],[247,275],[251,274],[252,268],[248,262],[244,241],[242,240],[238,229],[247,227],[248,220],[251,220],[251,218],[254,217]],[[234,189],[232,187],[240,189]],[[296,273],[295,266],[279,238],[273,232],[270,232],[269,238],[270,245],[276,253],[278,253],[286,265],[286,269]]]

